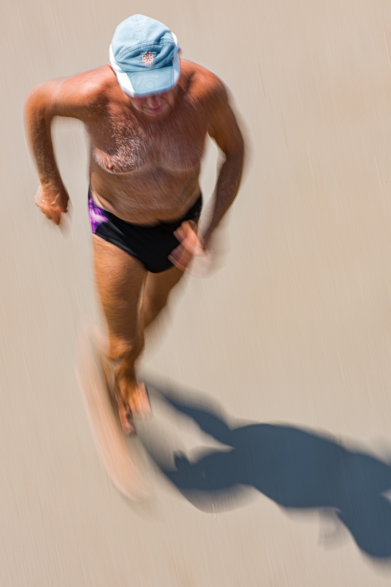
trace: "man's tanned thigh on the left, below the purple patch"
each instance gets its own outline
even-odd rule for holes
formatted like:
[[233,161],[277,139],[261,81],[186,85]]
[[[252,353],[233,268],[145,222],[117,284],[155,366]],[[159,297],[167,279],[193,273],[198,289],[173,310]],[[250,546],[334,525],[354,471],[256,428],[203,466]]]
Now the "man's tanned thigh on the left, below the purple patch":
[[142,263],[110,242],[92,235],[95,279],[112,338],[136,335],[140,293],[148,271]]

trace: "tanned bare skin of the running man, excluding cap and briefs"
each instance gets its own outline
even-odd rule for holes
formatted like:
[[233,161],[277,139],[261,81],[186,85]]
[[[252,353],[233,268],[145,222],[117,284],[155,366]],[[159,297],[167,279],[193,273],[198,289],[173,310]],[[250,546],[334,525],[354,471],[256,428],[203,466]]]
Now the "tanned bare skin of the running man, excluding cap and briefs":
[[[243,139],[221,80],[180,60],[177,85],[167,92],[129,98],[105,65],[33,88],[25,104],[30,146],[39,171],[36,204],[56,224],[68,193],[53,153],[54,116],[76,118],[90,137],[90,185],[96,204],[133,224],[153,226],[186,214],[200,193],[198,177],[209,134],[225,155],[215,188],[214,212],[204,234],[183,222],[170,260],[152,274],[145,266],[92,235],[98,295],[109,330],[108,362],[115,365],[115,394],[125,433],[132,415],[149,412],[145,386],[135,375],[144,330],[167,303],[193,255],[203,257],[211,235],[235,199],[243,166]],[[142,296],[142,297],[141,297]]]

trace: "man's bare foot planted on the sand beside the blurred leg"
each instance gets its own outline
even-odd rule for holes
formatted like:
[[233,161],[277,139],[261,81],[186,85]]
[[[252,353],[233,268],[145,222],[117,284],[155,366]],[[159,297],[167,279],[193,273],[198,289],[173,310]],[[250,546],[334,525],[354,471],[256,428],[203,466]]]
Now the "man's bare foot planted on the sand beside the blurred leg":
[[150,416],[152,410],[144,383],[132,382],[129,384],[129,380],[125,378],[121,378],[120,382],[115,377],[115,397],[118,403],[118,414],[122,430],[129,436],[135,433],[135,427],[132,422],[133,417],[146,418]]

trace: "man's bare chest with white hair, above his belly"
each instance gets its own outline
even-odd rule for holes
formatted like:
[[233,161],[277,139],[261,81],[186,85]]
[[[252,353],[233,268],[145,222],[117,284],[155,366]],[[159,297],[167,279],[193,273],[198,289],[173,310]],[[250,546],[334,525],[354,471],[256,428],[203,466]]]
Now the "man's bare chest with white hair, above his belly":
[[107,109],[90,132],[92,156],[103,170],[132,174],[153,168],[191,173],[200,167],[207,121],[191,109],[166,120],[142,124],[119,109]]

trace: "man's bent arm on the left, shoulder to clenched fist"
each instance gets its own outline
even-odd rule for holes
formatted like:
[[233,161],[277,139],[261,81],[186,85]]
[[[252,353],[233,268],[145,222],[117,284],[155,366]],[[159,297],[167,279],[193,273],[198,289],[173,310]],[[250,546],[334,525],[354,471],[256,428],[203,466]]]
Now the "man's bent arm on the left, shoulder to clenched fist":
[[91,91],[91,73],[44,82],[34,87],[26,98],[26,134],[40,179],[35,201],[43,214],[56,224],[60,224],[61,214],[67,211],[69,197],[54,157],[50,126],[54,116],[86,122],[91,100],[95,97],[95,92]]

